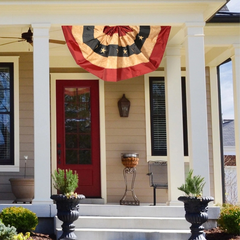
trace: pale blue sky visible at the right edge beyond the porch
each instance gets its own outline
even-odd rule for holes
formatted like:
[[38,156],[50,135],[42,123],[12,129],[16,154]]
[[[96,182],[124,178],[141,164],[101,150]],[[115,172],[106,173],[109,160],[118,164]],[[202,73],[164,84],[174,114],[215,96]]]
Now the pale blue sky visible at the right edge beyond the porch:
[[[240,0],[230,0],[227,4],[229,11],[240,12]],[[232,63],[220,67],[220,84],[222,100],[222,119],[234,119]]]

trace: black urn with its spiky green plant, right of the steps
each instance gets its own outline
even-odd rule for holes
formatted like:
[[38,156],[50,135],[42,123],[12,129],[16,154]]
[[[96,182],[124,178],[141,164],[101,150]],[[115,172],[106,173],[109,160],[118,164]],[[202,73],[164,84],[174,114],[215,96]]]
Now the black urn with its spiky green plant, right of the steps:
[[192,235],[189,240],[206,240],[202,224],[208,220],[208,203],[214,198],[202,196],[204,185],[204,178],[199,175],[193,176],[193,170],[190,170],[185,184],[178,188],[186,194],[178,200],[184,203],[185,218],[192,224],[190,227]]

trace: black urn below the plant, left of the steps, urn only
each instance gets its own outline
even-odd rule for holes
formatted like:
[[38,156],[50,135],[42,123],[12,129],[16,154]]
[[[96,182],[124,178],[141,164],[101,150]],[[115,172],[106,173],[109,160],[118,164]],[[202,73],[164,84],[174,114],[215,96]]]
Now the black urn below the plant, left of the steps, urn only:
[[76,198],[67,198],[62,194],[51,196],[51,199],[53,199],[57,205],[57,216],[63,222],[63,233],[59,239],[77,239],[74,233],[75,225],[73,222],[76,221],[79,217],[78,205],[83,198],[85,198],[84,195],[77,195]]

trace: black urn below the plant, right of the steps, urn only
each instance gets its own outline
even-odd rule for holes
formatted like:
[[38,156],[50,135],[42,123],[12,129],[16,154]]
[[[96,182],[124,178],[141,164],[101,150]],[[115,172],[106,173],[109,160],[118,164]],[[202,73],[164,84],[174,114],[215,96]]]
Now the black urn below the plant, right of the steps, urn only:
[[206,240],[202,224],[208,220],[208,203],[214,198],[182,196],[178,200],[184,203],[185,218],[192,224],[190,227],[192,235],[188,240]]

